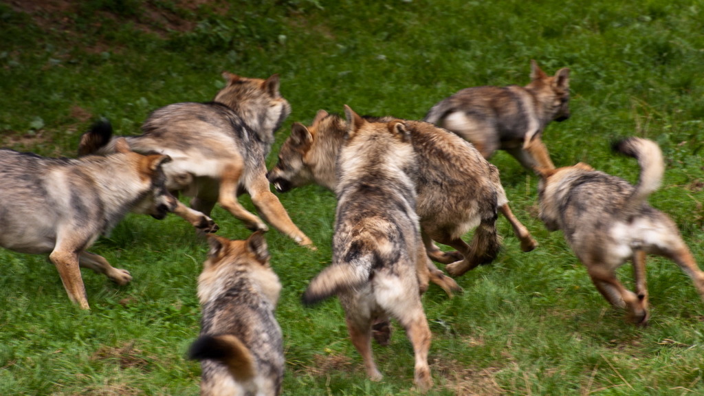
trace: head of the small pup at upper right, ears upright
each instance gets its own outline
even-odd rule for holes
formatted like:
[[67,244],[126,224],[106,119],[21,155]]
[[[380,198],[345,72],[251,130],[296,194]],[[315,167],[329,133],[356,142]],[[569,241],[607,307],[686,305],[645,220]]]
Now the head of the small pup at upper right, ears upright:
[[570,69],[561,68],[554,76],[548,76],[531,60],[530,78],[526,88],[543,104],[543,119],[561,122],[570,118]]

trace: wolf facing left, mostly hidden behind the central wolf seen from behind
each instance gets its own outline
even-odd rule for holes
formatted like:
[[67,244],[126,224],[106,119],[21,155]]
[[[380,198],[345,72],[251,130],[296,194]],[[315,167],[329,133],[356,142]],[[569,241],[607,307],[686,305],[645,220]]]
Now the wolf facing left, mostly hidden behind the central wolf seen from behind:
[[[388,122],[392,118],[373,118]],[[448,264],[452,276],[460,276],[479,264],[491,262],[498,254],[497,211],[513,226],[523,252],[537,245],[527,228],[508,205],[498,170],[457,135],[422,121],[403,121],[412,137],[419,161],[417,214],[428,256]],[[318,111],[313,125],[294,123],[291,136],[279,150],[279,161],[267,178],[279,192],[315,182],[334,190],[337,183],[335,159],[344,144],[348,123],[337,115]],[[341,171],[338,169],[338,171]],[[461,237],[477,227],[470,245]],[[458,252],[441,252],[433,240],[450,245]],[[434,283],[446,291],[453,289],[434,264]]]

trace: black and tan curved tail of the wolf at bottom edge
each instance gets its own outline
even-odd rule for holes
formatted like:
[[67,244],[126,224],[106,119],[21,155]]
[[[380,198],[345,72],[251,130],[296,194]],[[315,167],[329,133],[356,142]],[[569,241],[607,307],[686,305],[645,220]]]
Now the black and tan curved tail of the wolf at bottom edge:
[[227,366],[227,370],[238,381],[254,377],[254,357],[244,343],[231,334],[203,335],[188,351],[188,358],[194,360],[212,359]]

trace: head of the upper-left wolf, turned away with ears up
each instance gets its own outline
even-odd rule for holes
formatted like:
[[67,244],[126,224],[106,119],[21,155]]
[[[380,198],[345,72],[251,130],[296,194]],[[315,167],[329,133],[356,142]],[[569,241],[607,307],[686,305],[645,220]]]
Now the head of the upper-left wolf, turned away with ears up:
[[226,71],[222,77],[227,85],[214,100],[234,110],[249,128],[273,135],[291,113],[291,105],[279,93],[279,75],[260,80]]

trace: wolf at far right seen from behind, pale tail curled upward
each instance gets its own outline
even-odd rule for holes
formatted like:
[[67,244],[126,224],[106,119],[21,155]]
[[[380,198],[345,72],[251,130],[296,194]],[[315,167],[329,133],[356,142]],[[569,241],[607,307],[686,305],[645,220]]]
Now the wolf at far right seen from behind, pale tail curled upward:
[[[665,166],[655,142],[629,137],[614,145],[617,152],[638,160],[637,185],[595,171],[586,163],[558,169],[536,168],[540,175],[539,216],[548,230],[562,230],[567,244],[586,266],[597,290],[627,318],[648,323],[646,254],[677,263],[693,279],[704,299],[704,273],[684,244],[677,225],[653,209],[648,196],[658,190]],[[633,261],[636,292],[616,278],[616,268]]]

